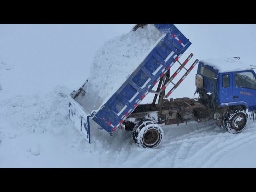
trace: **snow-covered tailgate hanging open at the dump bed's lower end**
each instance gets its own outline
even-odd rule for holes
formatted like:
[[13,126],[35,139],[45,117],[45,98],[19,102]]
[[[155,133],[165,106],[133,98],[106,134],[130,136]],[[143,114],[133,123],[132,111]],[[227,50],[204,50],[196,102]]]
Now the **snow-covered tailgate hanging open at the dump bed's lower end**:
[[82,136],[91,143],[90,140],[90,112],[87,112],[80,104],[69,96],[69,118]]

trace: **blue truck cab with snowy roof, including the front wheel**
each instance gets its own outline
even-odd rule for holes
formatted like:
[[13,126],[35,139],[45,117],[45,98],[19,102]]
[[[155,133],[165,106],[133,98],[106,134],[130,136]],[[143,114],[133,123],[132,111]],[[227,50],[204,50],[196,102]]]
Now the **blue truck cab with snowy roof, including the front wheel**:
[[[211,118],[229,132],[241,132],[248,120],[246,110],[256,110],[256,74],[250,65],[240,62],[238,58],[201,60],[196,74],[196,87]],[[238,121],[243,121],[240,126],[236,120],[232,124],[234,116]],[[230,122],[225,122],[225,118]]]

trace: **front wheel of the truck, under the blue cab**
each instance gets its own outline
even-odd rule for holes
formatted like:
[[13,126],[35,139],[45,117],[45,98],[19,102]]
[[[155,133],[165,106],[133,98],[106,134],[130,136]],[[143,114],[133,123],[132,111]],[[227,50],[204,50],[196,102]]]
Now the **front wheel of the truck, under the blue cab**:
[[242,132],[248,123],[248,114],[246,110],[237,108],[230,110],[223,121],[223,127],[232,134]]

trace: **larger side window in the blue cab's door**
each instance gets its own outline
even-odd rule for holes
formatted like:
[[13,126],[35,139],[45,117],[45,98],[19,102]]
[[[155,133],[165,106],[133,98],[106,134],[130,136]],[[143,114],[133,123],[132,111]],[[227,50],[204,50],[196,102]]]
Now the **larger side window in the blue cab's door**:
[[235,85],[237,87],[256,89],[256,78],[252,72],[235,74]]

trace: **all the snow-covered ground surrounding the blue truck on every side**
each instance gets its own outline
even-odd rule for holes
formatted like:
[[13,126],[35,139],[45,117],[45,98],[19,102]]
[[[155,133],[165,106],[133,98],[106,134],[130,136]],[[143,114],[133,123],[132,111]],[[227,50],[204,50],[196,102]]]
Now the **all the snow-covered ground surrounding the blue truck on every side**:
[[[256,167],[254,122],[236,135],[214,122],[163,126],[164,141],[154,150],[138,148],[131,132],[111,137],[94,128],[92,144],[77,132],[68,120],[66,95],[88,77],[96,50],[132,26],[0,25],[0,167]],[[243,42],[239,33],[253,35],[255,25],[176,26],[192,42],[187,54],[198,59],[232,54],[255,60],[245,58],[255,39]],[[221,43],[220,50],[233,52],[224,55],[217,49]],[[193,96],[193,73],[173,97]]]

